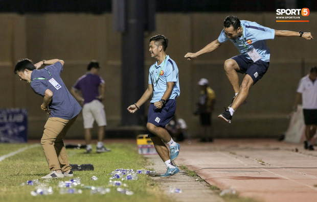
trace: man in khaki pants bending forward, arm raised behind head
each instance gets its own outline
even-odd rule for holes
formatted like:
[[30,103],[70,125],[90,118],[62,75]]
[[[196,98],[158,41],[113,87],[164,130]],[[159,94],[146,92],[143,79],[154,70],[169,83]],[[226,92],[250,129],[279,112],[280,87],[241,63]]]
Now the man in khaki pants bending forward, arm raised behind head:
[[[39,69],[42,65],[48,66]],[[64,61],[58,59],[43,60],[36,64],[29,59],[22,59],[14,68],[20,80],[31,84],[34,92],[43,97],[40,108],[50,114],[44,125],[41,145],[51,172],[43,179],[74,176],[63,138],[75,122],[81,107],[60,78],[63,65]]]

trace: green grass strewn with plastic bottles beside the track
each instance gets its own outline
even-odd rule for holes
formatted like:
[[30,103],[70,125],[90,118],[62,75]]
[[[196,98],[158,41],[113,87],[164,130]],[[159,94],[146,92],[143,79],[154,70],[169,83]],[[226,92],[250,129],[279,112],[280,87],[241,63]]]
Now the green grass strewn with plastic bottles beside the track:
[[[30,144],[1,144],[0,155],[14,152]],[[108,144],[110,153],[84,154],[84,149],[67,149],[71,164],[91,163],[93,171],[76,171],[74,178],[80,178],[85,186],[109,187],[108,182],[111,171],[117,168],[133,168],[134,170],[147,169],[147,161],[137,152],[137,146],[129,143]],[[105,195],[90,194],[84,190],[82,194],[59,194],[58,182],[72,178],[52,179],[47,183],[53,187],[53,195],[31,196],[30,192],[35,186],[21,186],[29,180],[40,179],[50,172],[41,146],[30,148],[0,162],[0,201],[171,201],[159,190],[159,186],[148,175],[138,175],[137,181],[124,181],[127,189],[133,195],[125,195],[116,191],[116,187],[109,187],[110,193]],[[97,181],[92,181],[92,176],[97,176]],[[40,179],[40,182],[45,180]],[[78,187],[77,187],[78,188]]]

